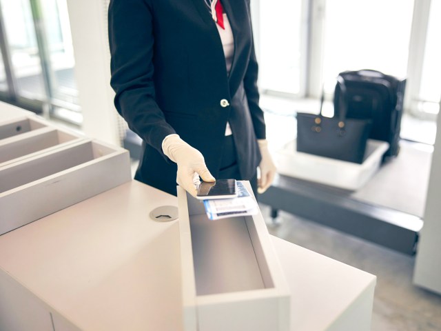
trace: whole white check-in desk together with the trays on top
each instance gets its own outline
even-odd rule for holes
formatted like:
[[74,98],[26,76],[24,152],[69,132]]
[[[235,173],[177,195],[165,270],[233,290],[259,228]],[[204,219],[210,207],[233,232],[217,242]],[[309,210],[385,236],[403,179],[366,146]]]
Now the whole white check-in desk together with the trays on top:
[[[207,228],[198,206],[132,181],[126,151],[0,106],[0,331],[370,330],[375,276],[269,236],[260,214]],[[151,219],[164,205],[183,217]]]

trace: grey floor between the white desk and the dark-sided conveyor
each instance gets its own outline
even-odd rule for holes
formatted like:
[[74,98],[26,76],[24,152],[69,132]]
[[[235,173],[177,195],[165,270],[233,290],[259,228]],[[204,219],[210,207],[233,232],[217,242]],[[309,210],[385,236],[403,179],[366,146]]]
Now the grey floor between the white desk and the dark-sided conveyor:
[[287,212],[280,212],[278,220],[281,223],[274,226],[269,217],[269,207],[260,205],[260,209],[271,234],[378,277],[371,330],[441,330],[441,296],[412,284],[414,257],[393,252]]

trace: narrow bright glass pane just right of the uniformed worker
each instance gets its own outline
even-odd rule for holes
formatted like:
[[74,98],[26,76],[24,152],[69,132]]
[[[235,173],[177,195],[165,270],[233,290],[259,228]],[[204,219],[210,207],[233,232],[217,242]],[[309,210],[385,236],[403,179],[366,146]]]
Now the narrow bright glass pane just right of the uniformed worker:
[[301,4],[300,0],[259,2],[259,86],[263,90],[300,92]]

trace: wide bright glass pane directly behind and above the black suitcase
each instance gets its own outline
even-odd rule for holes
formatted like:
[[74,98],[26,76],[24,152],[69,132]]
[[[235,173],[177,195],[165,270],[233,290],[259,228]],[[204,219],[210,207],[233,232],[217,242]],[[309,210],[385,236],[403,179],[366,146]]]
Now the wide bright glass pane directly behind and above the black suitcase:
[[345,70],[406,76],[413,0],[332,0],[325,11],[326,92]]

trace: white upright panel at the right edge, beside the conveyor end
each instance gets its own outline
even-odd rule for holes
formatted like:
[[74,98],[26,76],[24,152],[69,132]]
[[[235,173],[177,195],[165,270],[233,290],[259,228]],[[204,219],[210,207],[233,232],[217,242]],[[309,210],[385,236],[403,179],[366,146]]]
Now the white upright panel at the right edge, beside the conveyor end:
[[438,114],[437,128],[413,281],[441,293],[441,114]]

